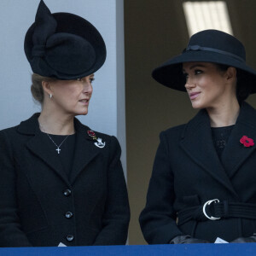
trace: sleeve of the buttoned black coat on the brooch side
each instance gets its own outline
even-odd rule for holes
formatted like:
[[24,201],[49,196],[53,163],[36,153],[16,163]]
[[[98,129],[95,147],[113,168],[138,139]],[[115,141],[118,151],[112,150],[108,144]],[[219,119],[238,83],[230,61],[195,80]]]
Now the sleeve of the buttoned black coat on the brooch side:
[[120,162],[121,148],[111,137],[110,163],[108,167],[108,198],[102,219],[103,228],[94,245],[125,244],[130,221],[130,207],[123,168]]

